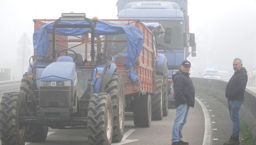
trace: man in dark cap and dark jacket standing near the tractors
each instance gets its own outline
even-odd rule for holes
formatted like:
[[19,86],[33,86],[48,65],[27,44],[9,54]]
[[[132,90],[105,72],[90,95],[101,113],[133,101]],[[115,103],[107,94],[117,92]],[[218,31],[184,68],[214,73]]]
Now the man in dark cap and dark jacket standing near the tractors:
[[175,119],[172,128],[172,145],[187,145],[182,141],[182,128],[186,124],[189,107],[195,105],[195,88],[189,77],[191,63],[187,60],[181,63],[180,70],[173,75],[175,93]]

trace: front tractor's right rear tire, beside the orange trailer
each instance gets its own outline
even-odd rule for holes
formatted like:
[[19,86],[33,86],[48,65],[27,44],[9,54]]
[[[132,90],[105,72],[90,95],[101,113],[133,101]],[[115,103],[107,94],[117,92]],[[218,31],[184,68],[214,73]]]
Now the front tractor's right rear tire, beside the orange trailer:
[[112,142],[121,142],[124,136],[124,84],[121,75],[114,72],[105,90],[110,94],[113,105]]

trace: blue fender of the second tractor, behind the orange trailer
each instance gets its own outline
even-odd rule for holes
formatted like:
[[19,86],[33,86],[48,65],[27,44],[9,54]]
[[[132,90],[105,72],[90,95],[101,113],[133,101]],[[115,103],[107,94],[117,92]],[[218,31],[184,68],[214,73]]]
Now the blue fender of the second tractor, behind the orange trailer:
[[156,74],[157,75],[164,75],[164,72],[167,68],[167,59],[164,54],[157,54],[158,60],[156,61]]

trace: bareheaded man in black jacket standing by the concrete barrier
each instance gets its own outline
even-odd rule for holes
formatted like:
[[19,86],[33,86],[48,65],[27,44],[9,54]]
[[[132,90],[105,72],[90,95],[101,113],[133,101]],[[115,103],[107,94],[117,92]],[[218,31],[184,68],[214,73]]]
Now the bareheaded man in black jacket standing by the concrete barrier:
[[224,145],[239,144],[240,120],[239,112],[244,101],[244,91],[247,84],[247,71],[243,67],[241,59],[234,59],[234,75],[230,78],[226,87],[226,98],[228,99],[228,110],[233,123],[230,139]]

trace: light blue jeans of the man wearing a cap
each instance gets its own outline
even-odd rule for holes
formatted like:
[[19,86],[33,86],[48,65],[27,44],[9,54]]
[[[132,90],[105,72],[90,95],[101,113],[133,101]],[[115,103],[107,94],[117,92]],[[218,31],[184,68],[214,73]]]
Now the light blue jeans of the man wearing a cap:
[[189,106],[187,103],[184,103],[180,104],[176,109],[175,120],[172,128],[172,142],[181,141],[182,139],[181,131],[183,126],[186,124]]

